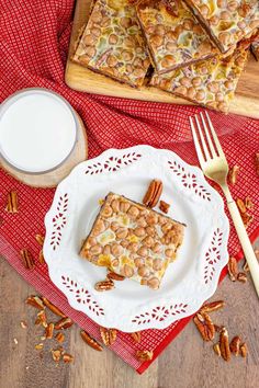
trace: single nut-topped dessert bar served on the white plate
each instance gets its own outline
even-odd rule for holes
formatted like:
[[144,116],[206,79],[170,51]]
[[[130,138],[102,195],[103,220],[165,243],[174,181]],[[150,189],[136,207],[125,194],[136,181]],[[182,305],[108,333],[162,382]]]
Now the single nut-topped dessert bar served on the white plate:
[[183,232],[183,224],[109,193],[80,255],[157,289],[176,259]]

